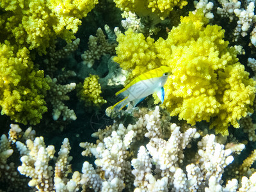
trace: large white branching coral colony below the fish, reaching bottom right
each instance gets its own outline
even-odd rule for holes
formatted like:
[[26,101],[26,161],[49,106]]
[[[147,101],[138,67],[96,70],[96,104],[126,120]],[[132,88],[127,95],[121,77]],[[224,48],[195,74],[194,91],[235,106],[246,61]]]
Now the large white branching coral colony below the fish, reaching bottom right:
[[[180,127],[176,124],[168,124],[166,129],[170,134],[168,132],[164,135],[164,120],[160,115],[159,107],[156,106],[156,109],[151,112],[139,118],[134,125],[129,124],[124,127],[122,124],[114,123],[112,127],[95,132],[92,136],[99,137],[97,144],[81,143],[81,147],[86,149],[83,154],[88,155],[91,152],[97,158],[95,161],[97,172],[106,170],[106,179],[108,179],[109,170],[113,169],[113,163],[115,163],[116,168],[112,173],[117,175],[118,179],[122,179],[120,175],[124,171],[129,175],[126,166],[123,166],[121,170],[119,168],[119,164],[127,161],[116,158],[115,150],[119,148],[120,157],[122,154],[127,154],[127,158],[132,157],[132,175],[135,177],[133,184],[136,187],[134,191],[211,191],[210,189],[212,191],[230,191],[231,189],[255,188],[255,184],[251,183],[255,173],[251,175],[250,179],[243,177],[241,188],[236,179],[228,180],[226,186],[223,186],[221,177],[224,168],[232,163],[234,157],[231,154],[235,153],[237,149],[227,149],[224,145],[217,143],[214,134],[207,134],[198,141],[198,151],[195,157],[189,159],[186,164],[185,156],[188,154],[184,153],[184,148],[189,148],[191,140],[198,139],[199,134],[196,129],[188,127],[185,132],[181,132]],[[142,137],[141,132],[143,132]],[[138,154],[134,156],[134,145],[138,145],[136,140],[138,141],[139,138],[143,140],[143,134],[149,138],[149,141],[147,145],[141,145]],[[132,135],[132,143],[130,143]],[[164,138],[168,138],[168,140],[164,140]],[[124,147],[127,144],[131,146],[131,150],[133,149],[130,154]],[[244,145],[239,152],[243,148]],[[191,151],[193,151],[192,148]],[[109,158],[113,161],[109,161]],[[115,173],[118,169],[120,172]],[[92,168],[90,170],[92,171]],[[92,171],[92,173],[95,172]],[[127,175],[125,175],[125,180],[132,179]],[[88,180],[92,182],[93,178]],[[122,188],[119,190],[121,191]]]

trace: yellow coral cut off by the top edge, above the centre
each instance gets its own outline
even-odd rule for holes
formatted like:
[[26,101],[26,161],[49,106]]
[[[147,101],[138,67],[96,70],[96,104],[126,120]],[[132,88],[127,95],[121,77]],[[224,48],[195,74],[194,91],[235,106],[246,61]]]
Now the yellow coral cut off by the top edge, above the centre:
[[114,0],[116,7],[126,12],[135,12],[140,17],[160,17],[162,20],[168,17],[175,6],[182,9],[188,4],[185,0]]

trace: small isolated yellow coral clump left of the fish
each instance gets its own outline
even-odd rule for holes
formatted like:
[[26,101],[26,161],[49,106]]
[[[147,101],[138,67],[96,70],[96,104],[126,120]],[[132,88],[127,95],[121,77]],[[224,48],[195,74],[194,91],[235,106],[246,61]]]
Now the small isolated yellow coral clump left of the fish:
[[107,101],[100,97],[101,93],[101,86],[98,82],[99,76],[93,76],[90,74],[90,77],[86,77],[84,79],[84,83],[79,84],[77,96],[84,100],[86,107],[92,106],[102,106],[102,104],[106,103]]

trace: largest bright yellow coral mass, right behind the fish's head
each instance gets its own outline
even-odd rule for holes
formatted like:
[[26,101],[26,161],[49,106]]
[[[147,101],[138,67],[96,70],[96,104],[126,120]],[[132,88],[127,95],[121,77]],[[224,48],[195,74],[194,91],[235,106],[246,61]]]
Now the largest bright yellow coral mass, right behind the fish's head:
[[255,81],[223,40],[225,31],[207,23],[202,10],[190,12],[157,42],[128,30],[118,35],[114,60],[136,76],[159,65],[171,67],[162,106],[192,125],[211,120],[216,133],[227,135],[229,125],[239,127],[237,120],[252,112]]

